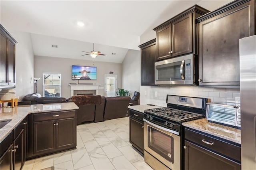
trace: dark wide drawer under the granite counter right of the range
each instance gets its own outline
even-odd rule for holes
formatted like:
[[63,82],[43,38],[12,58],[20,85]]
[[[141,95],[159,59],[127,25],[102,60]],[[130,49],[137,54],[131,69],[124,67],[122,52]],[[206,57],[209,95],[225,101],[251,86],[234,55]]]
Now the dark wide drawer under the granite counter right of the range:
[[[241,162],[241,147],[185,128],[185,139]],[[208,143],[208,144],[207,144]]]

